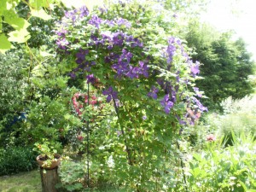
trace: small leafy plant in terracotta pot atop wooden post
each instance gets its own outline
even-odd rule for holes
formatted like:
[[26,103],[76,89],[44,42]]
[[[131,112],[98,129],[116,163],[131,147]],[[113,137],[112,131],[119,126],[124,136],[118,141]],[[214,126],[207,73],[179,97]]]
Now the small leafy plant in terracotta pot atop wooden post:
[[35,146],[35,150],[40,153],[37,157],[38,166],[44,169],[54,169],[61,164],[61,155],[57,154],[57,150],[50,146],[47,139],[43,139],[43,143],[35,143]]

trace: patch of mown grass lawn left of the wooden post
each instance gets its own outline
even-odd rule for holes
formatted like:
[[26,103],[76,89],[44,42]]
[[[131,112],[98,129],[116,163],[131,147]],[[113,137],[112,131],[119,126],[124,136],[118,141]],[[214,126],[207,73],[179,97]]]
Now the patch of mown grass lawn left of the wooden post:
[[39,170],[0,177],[0,192],[41,192]]

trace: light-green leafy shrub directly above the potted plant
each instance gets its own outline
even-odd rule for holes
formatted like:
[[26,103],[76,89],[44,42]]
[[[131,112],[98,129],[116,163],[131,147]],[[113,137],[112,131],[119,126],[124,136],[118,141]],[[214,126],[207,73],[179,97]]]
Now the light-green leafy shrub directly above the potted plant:
[[30,54],[38,56],[32,57],[35,62],[31,66],[26,120],[20,137],[27,144],[40,143],[43,138],[64,142],[69,127],[79,123],[75,118],[67,118],[75,91],[67,86],[68,66],[63,67],[59,58],[53,55],[42,56],[38,50],[31,51]]

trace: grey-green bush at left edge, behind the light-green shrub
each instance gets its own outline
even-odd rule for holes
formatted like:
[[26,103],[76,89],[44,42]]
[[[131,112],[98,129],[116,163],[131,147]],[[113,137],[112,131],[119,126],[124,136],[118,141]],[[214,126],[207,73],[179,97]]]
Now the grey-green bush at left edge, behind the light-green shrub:
[[7,143],[15,120],[24,111],[29,58],[22,50],[0,55],[0,144]]

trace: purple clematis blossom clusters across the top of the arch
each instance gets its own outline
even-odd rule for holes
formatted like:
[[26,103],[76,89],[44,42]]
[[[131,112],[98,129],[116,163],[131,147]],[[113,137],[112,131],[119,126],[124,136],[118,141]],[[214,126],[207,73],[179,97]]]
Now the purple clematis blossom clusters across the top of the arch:
[[[181,39],[173,36],[167,38],[166,44],[162,45],[161,48],[160,69],[152,69],[152,66],[156,64],[154,54],[148,55],[149,49],[151,49],[147,45],[148,39],[143,39],[143,36],[135,37],[130,32],[135,29],[133,28],[134,22],[122,17],[110,19],[102,16],[108,14],[107,9],[104,9],[104,11],[99,9],[99,11],[99,14],[96,14],[96,12],[90,14],[85,7],[67,11],[61,24],[59,24],[59,30],[55,32],[57,36],[56,44],[59,49],[68,49],[75,52],[75,62],[78,66],[69,73],[71,78],[75,79],[77,77],[76,73],[86,73],[87,83],[94,84],[98,79],[95,68],[103,67],[101,75],[103,77],[105,75],[114,82],[120,83],[125,79],[140,82],[143,79],[148,79],[151,84],[146,85],[145,88],[146,90],[150,89],[150,91],[147,91],[145,95],[154,99],[155,102],[159,102],[167,114],[172,112],[177,100],[185,102],[188,106],[192,105],[193,102],[194,106],[201,112],[207,111],[207,108],[199,100],[196,98],[187,99],[186,94],[181,92],[184,87],[186,89],[189,85],[189,76],[195,78],[200,73],[200,63],[198,61],[193,63],[189,58]],[[71,26],[72,30],[78,30],[79,33],[81,23],[84,25],[84,34],[89,35],[79,39],[67,38],[69,37],[67,34],[70,34],[68,26]],[[92,30],[91,26],[95,26],[95,29]],[[154,39],[152,40],[154,41]],[[176,55],[181,55],[182,60],[186,62],[186,68],[189,72],[187,76],[186,73],[183,73],[183,68],[176,67],[174,62],[176,61]],[[101,61],[97,62],[101,66],[96,64],[96,60]],[[102,61],[107,65],[104,66]],[[109,69],[110,71],[108,71]],[[172,74],[172,77],[164,78],[163,75],[160,75],[161,77],[156,78],[156,75],[163,72],[168,75]],[[154,81],[150,79],[154,79]],[[110,84],[113,84],[113,82]],[[193,89],[196,96],[202,96],[198,88]],[[111,102],[111,100],[118,97],[118,92],[113,90],[112,86],[103,90],[102,94],[107,96],[107,102]],[[159,101],[157,100],[158,97],[163,99]],[[196,111],[196,108],[191,108],[191,110]],[[177,120],[181,121],[181,119]]]

